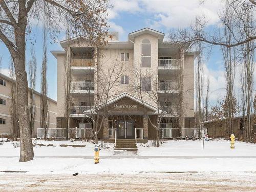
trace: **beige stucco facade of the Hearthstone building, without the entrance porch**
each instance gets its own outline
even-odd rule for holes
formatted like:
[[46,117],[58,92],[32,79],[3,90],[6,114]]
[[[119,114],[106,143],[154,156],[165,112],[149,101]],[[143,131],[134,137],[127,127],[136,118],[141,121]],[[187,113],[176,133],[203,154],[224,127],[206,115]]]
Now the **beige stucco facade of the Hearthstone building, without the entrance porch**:
[[[118,33],[112,33],[111,37],[108,36],[106,46],[98,48],[90,46],[82,37],[63,40],[60,42],[63,51],[52,51],[57,59],[57,118],[65,116],[65,62],[66,51],[70,49],[72,83],[77,85],[71,94],[71,119],[84,117],[81,109],[103,104],[102,101],[108,102],[127,93],[154,108],[161,106],[161,109],[175,109],[171,111],[179,111],[177,108],[182,100],[183,121],[186,122],[183,126],[193,127],[190,121],[194,118],[194,59],[197,54],[186,52],[186,47],[164,42],[164,33],[149,28],[130,33],[127,41],[119,41]],[[145,39],[149,42],[146,44],[150,45],[150,66],[147,67],[142,66],[142,44]],[[121,54],[129,54],[129,59],[121,60]],[[127,82],[126,77],[121,76],[126,76]],[[150,91],[142,91],[143,77],[151,79]],[[113,82],[111,89],[106,88],[105,81]],[[106,90],[108,99],[99,101],[97,97]],[[149,94],[156,97],[150,97]],[[178,117],[177,114],[167,112],[164,118]],[[79,126],[75,123],[72,125]],[[57,123],[57,126],[63,127],[63,123]],[[150,130],[148,132],[151,133]]]

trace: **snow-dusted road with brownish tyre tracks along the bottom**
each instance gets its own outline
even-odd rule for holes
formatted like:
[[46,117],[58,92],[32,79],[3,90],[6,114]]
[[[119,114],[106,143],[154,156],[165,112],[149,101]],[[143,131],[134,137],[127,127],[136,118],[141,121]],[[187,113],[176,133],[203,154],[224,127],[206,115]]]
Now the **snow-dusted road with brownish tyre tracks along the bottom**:
[[256,191],[256,173],[0,174],[0,191]]

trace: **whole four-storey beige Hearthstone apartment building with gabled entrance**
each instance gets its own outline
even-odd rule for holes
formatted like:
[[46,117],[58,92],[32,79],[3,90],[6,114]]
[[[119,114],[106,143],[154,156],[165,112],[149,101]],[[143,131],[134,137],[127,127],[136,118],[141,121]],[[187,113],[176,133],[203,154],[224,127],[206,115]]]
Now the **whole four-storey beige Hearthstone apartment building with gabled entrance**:
[[91,129],[91,117],[96,114],[104,118],[98,127],[100,140],[155,138],[153,124],[159,115],[160,137],[185,137],[186,130],[194,127],[197,53],[164,42],[164,35],[144,28],[130,33],[127,41],[119,41],[114,32],[106,37],[108,44],[99,47],[90,46],[81,36],[61,41],[63,51],[51,51],[57,59],[57,127],[66,127],[65,63],[69,50],[70,127],[77,127],[75,137],[83,137]]

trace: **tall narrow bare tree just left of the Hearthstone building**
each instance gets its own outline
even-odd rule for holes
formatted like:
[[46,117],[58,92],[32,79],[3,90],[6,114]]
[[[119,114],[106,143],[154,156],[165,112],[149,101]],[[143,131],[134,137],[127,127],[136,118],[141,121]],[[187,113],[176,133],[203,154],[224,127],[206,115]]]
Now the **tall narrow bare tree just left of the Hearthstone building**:
[[47,137],[47,128],[49,123],[49,105],[48,105],[48,99],[47,99],[47,34],[46,34],[46,28],[44,28],[44,37],[43,37],[43,45],[42,49],[44,51],[43,57],[42,57],[42,66],[41,66],[41,102],[40,102],[40,127],[44,128],[45,130],[45,139]]

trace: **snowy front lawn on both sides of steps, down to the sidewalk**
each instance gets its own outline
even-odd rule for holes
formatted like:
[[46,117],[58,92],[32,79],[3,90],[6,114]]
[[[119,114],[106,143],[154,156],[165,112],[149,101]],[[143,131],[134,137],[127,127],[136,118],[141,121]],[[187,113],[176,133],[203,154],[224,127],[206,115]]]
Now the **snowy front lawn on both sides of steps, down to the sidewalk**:
[[[19,147],[14,148],[15,142],[4,142],[0,145],[0,157],[18,156]],[[34,144],[53,144],[54,146],[34,146],[35,156],[93,156],[95,144],[91,141],[44,141],[34,140]],[[60,144],[86,145],[85,147],[61,147]],[[153,147],[151,141],[138,143],[137,156],[253,156],[256,157],[256,144],[236,142],[234,150],[230,149],[230,142],[225,140],[205,141],[204,152],[202,141],[166,140],[161,147]],[[114,155],[114,143],[104,143],[100,156]],[[125,153],[123,153],[125,155]],[[130,154],[129,154],[130,155]]]

